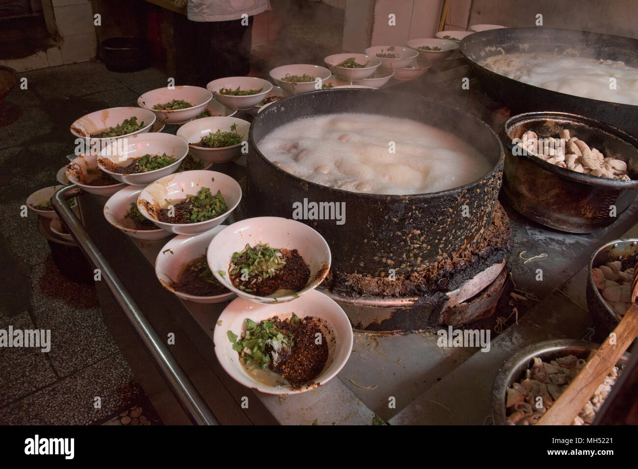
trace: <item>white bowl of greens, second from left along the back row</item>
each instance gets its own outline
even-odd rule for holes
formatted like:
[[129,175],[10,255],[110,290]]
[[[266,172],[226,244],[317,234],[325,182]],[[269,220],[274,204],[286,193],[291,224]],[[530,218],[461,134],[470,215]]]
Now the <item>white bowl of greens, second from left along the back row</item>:
[[[182,100],[191,103],[193,107],[175,110],[156,110],[156,104],[170,103],[172,100]],[[159,121],[166,124],[183,124],[200,114],[212,100],[212,94],[199,86],[175,86],[172,88],[158,88],[147,91],[137,98],[137,104],[153,112]]]

